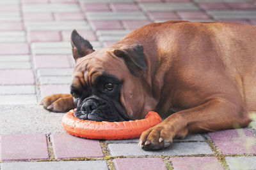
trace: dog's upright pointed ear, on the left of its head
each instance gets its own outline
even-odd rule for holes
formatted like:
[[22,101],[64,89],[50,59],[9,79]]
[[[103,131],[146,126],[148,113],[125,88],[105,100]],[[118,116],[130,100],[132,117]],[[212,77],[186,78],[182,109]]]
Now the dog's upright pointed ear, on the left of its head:
[[94,52],[89,41],[81,37],[74,29],[71,34],[72,53],[75,60]]

